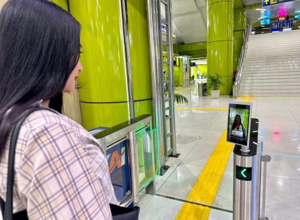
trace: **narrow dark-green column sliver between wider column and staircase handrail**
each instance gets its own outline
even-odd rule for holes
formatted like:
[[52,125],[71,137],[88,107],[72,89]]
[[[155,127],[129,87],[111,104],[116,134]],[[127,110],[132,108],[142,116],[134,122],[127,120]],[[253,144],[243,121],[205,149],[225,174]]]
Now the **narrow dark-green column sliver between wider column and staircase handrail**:
[[234,8],[234,32],[233,32],[233,71],[237,71],[239,57],[243,47],[243,31],[246,28],[246,13],[243,8]]

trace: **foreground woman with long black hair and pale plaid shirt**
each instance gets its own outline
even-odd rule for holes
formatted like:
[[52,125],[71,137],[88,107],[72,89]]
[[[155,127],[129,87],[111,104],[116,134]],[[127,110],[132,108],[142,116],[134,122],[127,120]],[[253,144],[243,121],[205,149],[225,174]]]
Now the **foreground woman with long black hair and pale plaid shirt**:
[[[80,24],[47,0],[9,0],[0,14],[0,197],[6,198],[10,131],[36,105],[72,92]],[[13,209],[29,219],[112,219],[117,203],[105,155],[82,126],[38,110],[22,124]]]

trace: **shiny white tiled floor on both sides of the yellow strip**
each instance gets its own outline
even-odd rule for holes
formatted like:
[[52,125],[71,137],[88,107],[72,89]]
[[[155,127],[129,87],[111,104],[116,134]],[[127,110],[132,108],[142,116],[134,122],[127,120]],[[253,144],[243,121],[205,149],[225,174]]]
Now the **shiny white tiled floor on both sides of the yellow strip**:
[[[178,159],[156,179],[158,196],[142,193],[140,219],[176,219],[227,123],[229,101],[237,99],[198,97],[193,89],[182,91],[188,105],[177,105]],[[266,214],[269,219],[300,219],[300,98],[255,98],[253,117],[260,120],[259,139],[268,164]],[[185,108],[185,109],[182,109]],[[186,109],[192,108],[192,109]],[[276,134],[278,133],[278,134]],[[209,219],[232,219],[233,156],[227,163],[223,180]]]

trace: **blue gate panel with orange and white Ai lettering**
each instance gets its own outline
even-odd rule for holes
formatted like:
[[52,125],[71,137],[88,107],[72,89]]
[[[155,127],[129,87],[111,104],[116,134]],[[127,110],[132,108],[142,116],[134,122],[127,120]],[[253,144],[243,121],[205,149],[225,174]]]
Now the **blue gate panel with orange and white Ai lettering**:
[[110,179],[114,186],[117,200],[121,202],[126,197],[130,187],[130,166],[128,158],[128,140],[110,147],[106,151]]

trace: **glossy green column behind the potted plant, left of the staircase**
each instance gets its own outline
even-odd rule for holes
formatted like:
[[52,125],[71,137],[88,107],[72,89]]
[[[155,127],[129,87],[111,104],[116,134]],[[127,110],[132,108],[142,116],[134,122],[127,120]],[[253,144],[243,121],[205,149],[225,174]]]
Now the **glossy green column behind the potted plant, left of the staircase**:
[[218,73],[225,83],[220,94],[232,91],[233,1],[207,1],[207,74]]

